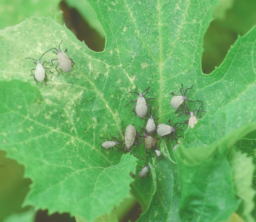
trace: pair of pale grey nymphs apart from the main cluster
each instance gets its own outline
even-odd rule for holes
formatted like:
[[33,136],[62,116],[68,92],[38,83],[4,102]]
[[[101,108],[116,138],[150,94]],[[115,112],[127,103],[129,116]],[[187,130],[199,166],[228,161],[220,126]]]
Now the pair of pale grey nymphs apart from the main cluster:
[[[62,42],[63,40],[61,40]],[[68,49],[66,49],[65,51],[61,51],[61,43],[59,44],[59,49],[56,49],[56,48],[52,48],[52,49],[49,49],[48,51],[46,51],[45,53],[43,53],[43,55],[39,58],[39,60],[36,60],[36,59],[33,59],[33,58],[26,58],[26,59],[32,59],[32,60],[35,60],[36,62],[34,62],[36,64],[36,69],[32,69],[31,70],[31,75],[33,75],[33,70],[35,70],[35,73],[34,73],[34,79],[36,80],[36,83],[37,83],[37,80],[39,82],[42,82],[44,79],[45,79],[45,85],[46,85],[46,81],[47,81],[47,75],[45,73],[45,69],[48,69],[50,71],[49,68],[47,67],[43,67],[43,64],[46,62],[44,61],[43,63],[41,63],[41,58],[46,54],[48,53],[49,51],[53,51],[53,50],[56,50],[56,51],[53,51],[55,54],[57,54],[58,58],[56,59],[52,59],[52,61],[54,60],[58,60],[58,64],[57,66],[55,67],[56,71],[58,72],[58,75],[59,75],[59,71],[57,70],[57,67],[60,66],[61,69],[64,71],[64,72],[69,72],[71,70],[71,67],[75,64],[75,62],[73,62],[72,59],[68,58],[68,56],[66,55],[66,51]],[[48,63],[48,62],[46,62]],[[52,62],[52,65],[53,65],[53,62]],[[53,73],[50,71],[50,73]]]

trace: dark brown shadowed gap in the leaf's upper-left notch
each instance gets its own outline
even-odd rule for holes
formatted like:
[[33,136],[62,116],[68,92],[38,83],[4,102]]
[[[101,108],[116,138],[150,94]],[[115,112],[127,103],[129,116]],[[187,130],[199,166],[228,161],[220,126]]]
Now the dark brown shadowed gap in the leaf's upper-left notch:
[[77,9],[69,7],[65,1],[59,4],[63,11],[63,20],[66,27],[70,29],[75,36],[93,51],[104,51],[105,39],[102,38],[95,29],[91,28],[86,20],[81,16]]

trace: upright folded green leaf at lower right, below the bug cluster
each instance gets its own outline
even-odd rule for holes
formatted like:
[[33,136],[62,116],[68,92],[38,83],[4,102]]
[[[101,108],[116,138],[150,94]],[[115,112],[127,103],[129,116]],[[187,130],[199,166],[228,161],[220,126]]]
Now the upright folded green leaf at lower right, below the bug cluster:
[[228,220],[239,201],[236,200],[232,169],[226,158],[215,149],[184,149],[182,146],[177,150],[177,157],[182,191],[181,220]]

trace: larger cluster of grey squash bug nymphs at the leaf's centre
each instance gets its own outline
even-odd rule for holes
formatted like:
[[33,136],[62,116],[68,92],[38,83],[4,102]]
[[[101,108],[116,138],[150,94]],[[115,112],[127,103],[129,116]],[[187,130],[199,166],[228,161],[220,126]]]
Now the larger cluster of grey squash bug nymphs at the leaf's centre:
[[[188,88],[188,89],[192,89],[193,85]],[[165,138],[168,135],[171,135],[171,139],[173,141],[173,147],[174,147],[174,141],[178,144],[179,142],[177,141],[177,138],[182,137],[184,138],[182,135],[177,135],[177,131],[182,131],[182,129],[177,129],[178,127],[180,127],[182,124],[184,123],[188,123],[188,126],[191,128],[194,128],[195,124],[197,124],[197,115],[199,113],[203,102],[201,100],[196,100],[196,101],[192,101],[192,100],[188,100],[186,93],[187,90],[184,92],[183,89],[183,85],[181,84],[181,95],[177,95],[176,93],[170,93],[173,94],[174,96],[171,98],[171,105],[174,109],[177,109],[175,113],[177,113],[180,108],[182,107],[182,104],[184,104],[184,112],[179,114],[178,116],[185,114],[185,116],[188,114],[190,115],[190,118],[185,120],[182,123],[175,123],[174,126],[172,127],[170,119],[168,120],[169,125],[167,124],[163,124],[160,123],[157,127],[156,124],[154,123],[154,115],[157,111],[157,109],[159,107],[156,108],[156,110],[154,110],[154,113],[151,115],[152,112],[152,107],[147,104],[146,100],[150,100],[150,99],[154,99],[154,98],[145,98],[145,95],[149,92],[148,89],[150,87],[148,87],[143,93],[138,93],[137,92],[137,87],[136,90],[134,92],[129,92],[129,93],[135,93],[136,95],[138,95],[138,99],[137,100],[133,100],[131,102],[137,102],[136,105],[134,106],[134,108],[132,109],[133,112],[135,112],[140,118],[143,118],[143,120],[146,120],[147,122],[145,123],[145,125],[141,128],[140,127],[140,131],[137,131],[135,129],[135,127],[131,124],[129,124],[126,127],[125,133],[123,131],[123,122],[122,122],[122,134],[125,137],[125,140],[121,141],[120,140],[120,134],[118,132],[119,135],[119,139],[117,139],[116,137],[113,137],[111,134],[109,134],[111,136],[111,140],[109,140],[108,138],[104,138],[107,141],[102,143],[102,147],[106,150],[109,151],[109,149],[113,150],[113,147],[116,147],[118,150],[122,150],[124,152],[130,152],[133,153],[134,155],[136,155],[138,158],[144,160],[143,158],[139,157],[136,153],[134,153],[133,151],[131,151],[131,146],[133,144],[135,144],[135,147],[142,144],[145,141],[145,152],[147,154],[150,155],[150,151],[154,151],[154,155],[156,158],[160,158],[161,157],[161,152],[159,151],[158,147],[157,147],[157,140],[159,140],[160,138],[156,138],[156,137],[152,137],[155,132],[158,133],[158,135],[161,136],[161,139]],[[127,105],[129,105],[131,102],[129,102]],[[189,111],[189,108],[187,106],[187,102],[200,102],[200,107],[198,109],[195,109],[193,111]],[[127,106],[125,105],[125,106]],[[150,115],[147,115],[147,107],[150,107]],[[134,111],[135,109],[135,111]],[[197,111],[197,113],[195,114],[194,112]],[[205,112],[205,111],[203,111]],[[144,119],[144,117],[147,115],[147,119]],[[178,117],[177,116],[177,117]],[[157,119],[158,120],[158,119]],[[140,139],[138,139],[140,138]],[[137,141],[136,141],[137,139]],[[122,143],[125,142],[123,145]],[[146,154],[145,154],[146,156]],[[146,156],[146,166],[140,171],[140,173],[138,174],[139,178],[144,178],[149,170],[149,164],[147,161],[147,156]]]

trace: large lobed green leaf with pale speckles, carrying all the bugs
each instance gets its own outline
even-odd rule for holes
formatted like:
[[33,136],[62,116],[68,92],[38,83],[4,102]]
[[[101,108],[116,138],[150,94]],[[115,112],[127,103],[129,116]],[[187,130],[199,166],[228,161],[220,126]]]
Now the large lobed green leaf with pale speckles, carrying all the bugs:
[[[190,194],[187,184],[195,187],[201,181],[204,183],[200,184],[200,189],[204,192],[195,198],[199,206],[190,206],[190,214],[196,217],[207,197],[207,200],[221,200],[222,208],[216,211],[212,204],[205,218],[214,221],[216,213],[220,219],[228,218],[242,202],[242,195],[238,195],[240,200],[235,198],[234,187],[238,180],[232,179],[232,170],[238,165],[231,165],[229,151],[256,126],[256,29],[240,37],[222,65],[210,75],[204,75],[202,43],[216,4],[214,0],[91,0],[90,3],[106,33],[102,53],[89,50],[66,27],[50,18],[30,18],[0,31],[0,124],[3,126],[0,149],[7,151],[9,158],[24,164],[25,177],[33,181],[24,205],[49,209],[50,213],[69,212],[88,221],[109,213],[113,205],[129,195],[129,184],[134,181],[129,173],[135,172],[136,158],[131,154],[122,155],[120,151],[106,152],[101,147],[104,139],[100,137],[107,137],[108,132],[118,136],[116,131],[122,131],[121,121],[125,127],[134,124],[136,129],[145,124],[131,112],[131,104],[124,107],[136,100],[136,95],[128,93],[135,86],[138,91],[150,87],[147,97],[156,100],[147,101],[153,108],[159,106],[155,116],[159,118],[158,123],[167,124],[168,118],[172,124],[183,122],[187,117],[181,115],[176,119],[177,114],[170,105],[170,92],[179,93],[183,83],[184,88],[193,84],[187,96],[204,101],[202,110],[207,113],[200,113],[204,119],[199,120],[194,129],[185,131],[185,140],[181,142],[186,149],[178,151],[184,153],[179,156],[178,170],[171,162],[174,158],[168,154],[172,153],[172,141],[167,137],[166,159],[155,160],[151,165],[153,179],[139,180],[136,176],[131,185],[132,193],[144,211],[150,204],[141,220],[154,218],[155,211],[159,211],[164,213],[162,221],[167,221],[171,220],[173,209],[175,218],[179,218],[176,212],[180,201],[181,212],[190,206],[183,198]],[[75,66],[70,72],[61,71],[57,75],[54,67],[45,64],[54,73],[46,70],[47,86],[44,82],[36,85],[30,75],[35,64],[25,58],[38,60],[48,49],[57,48],[61,40],[61,49],[68,48],[66,53]],[[56,57],[49,52],[42,62]],[[188,106],[190,110],[199,108],[196,102]],[[191,152],[190,147],[199,147],[200,152],[186,155]],[[144,156],[144,144],[132,150]],[[195,171],[186,164],[193,157],[201,163]],[[137,162],[145,165],[142,160]],[[193,178],[190,183],[186,181],[187,170]],[[212,183],[202,180],[208,173],[214,175],[216,184],[229,183],[225,186],[225,195],[206,192]],[[159,175],[167,177],[166,182],[158,181]],[[181,180],[181,200],[179,193],[174,193],[178,182],[173,178]],[[149,182],[144,186],[147,192],[143,188],[146,181]],[[250,187],[249,182],[247,187]],[[162,193],[163,189],[166,190]],[[170,207],[166,201],[162,209],[155,206],[163,194],[168,200],[173,198],[176,205]],[[246,218],[249,213],[242,212],[242,216]],[[190,214],[184,214],[181,220],[191,218]]]

